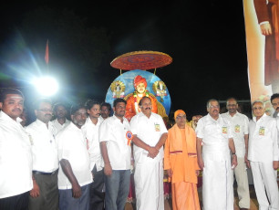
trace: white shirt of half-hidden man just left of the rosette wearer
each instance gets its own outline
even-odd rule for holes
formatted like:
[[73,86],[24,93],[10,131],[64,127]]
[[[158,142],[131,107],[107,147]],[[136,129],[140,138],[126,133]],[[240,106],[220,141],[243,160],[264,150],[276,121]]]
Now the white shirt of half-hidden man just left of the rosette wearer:
[[90,155],[90,169],[93,170],[96,164],[97,171],[102,170],[102,155],[100,152],[98,142],[98,129],[102,120],[98,118],[98,122],[95,125],[88,117],[86,123],[82,126],[81,130],[84,132],[88,140],[88,152]]

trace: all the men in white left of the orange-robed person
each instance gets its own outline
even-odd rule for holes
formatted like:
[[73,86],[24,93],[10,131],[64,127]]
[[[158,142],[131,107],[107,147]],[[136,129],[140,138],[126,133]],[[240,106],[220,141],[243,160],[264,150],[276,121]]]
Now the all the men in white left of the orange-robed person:
[[[71,121],[63,104],[53,107],[51,100],[36,100],[36,121],[26,127],[19,118],[24,100],[17,89],[2,92],[0,209],[124,209],[134,157],[138,209],[163,208],[162,160],[168,131],[160,115],[151,112],[150,98],[140,100],[142,112],[131,123],[124,118],[122,99],[114,101],[112,117],[109,104],[100,108],[88,100],[74,105]],[[106,114],[100,117],[101,109],[108,113],[107,120]]]

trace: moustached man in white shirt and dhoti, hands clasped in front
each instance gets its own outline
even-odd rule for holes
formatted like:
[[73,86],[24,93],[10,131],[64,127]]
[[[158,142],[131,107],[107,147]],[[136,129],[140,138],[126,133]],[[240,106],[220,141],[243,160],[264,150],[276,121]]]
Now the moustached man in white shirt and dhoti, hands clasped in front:
[[130,121],[137,209],[164,209],[162,161],[168,131],[160,115],[151,112],[149,97],[143,97],[139,105],[141,112]]

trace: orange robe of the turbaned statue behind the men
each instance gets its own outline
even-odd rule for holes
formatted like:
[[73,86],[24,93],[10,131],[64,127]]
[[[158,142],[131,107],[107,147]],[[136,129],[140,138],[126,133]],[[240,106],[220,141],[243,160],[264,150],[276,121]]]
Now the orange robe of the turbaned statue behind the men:
[[[145,94],[143,94],[143,96],[145,96]],[[153,113],[158,113],[158,108],[157,108],[157,99],[154,98],[153,96],[149,96],[150,100],[152,102],[152,112]],[[125,113],[125,118],[130,121],[130,119],[135,116],[137,113],[140,112],[140,107],[139,107],[139,102],[142,99],[142,97],[134,97],[133,95],[130,96],[127,99],[127,105],[126,105],[126,113]],[[136,102],[136,104],[135,104]],[[138,108],[136,108],[136,106],[138,106]],[[138,109],[138,110],[136,110]]]

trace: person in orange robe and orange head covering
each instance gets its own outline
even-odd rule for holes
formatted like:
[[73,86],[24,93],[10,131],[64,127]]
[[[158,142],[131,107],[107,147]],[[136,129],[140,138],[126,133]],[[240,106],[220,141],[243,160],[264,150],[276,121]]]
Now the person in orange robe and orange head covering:
[[171,180],[172,209],[200,210],[197,191],[199,165],[195,131],[186,124],[183,110],[174,112],[176,124],[168,131],[164,169]]

